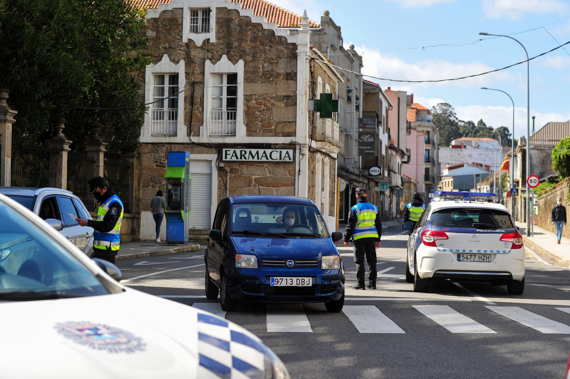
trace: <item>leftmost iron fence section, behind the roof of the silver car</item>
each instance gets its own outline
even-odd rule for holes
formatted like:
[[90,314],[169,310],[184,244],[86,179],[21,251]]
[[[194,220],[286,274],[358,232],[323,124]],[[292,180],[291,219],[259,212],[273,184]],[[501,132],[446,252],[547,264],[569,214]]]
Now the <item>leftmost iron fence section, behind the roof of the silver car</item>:
[[21,187],[55,186],[58,152],[46,146],[12,146],[11,185]]

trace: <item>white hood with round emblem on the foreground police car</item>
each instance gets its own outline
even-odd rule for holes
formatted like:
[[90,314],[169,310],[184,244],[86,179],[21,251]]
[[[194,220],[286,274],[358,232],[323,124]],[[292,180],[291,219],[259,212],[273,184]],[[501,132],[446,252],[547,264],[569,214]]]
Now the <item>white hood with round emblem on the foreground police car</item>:
[[[216,335],[219,331],[211,332],[215,326],[198,322],[198,314],[229,324],[226,328],[261,344],[226,320],[132,289],[86,298],[0,302],[1,376],[218,378],[200,365],[203,342],[198,332]],[[205,350],[209,348],[206,344]],[[258,357],[259,369],[264,370],[265,357]]]

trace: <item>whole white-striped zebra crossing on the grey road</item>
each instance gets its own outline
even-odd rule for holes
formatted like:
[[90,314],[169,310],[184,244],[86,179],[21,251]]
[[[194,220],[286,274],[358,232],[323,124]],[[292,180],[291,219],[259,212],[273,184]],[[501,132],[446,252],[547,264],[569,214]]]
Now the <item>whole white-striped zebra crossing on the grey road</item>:
[[[219,303],[194,303],[198,309],[210,312],[221,318],[227,314],[222,311]],[[523,307],[514,306],[482,306],[494,312],[498,318],[506,323],[518,323],[545,334],[570,334],[570,326],[548,319],[544,316],[528,311]],[[483,324],[461,314],[453,306],[448,305],[413,305],[416,315],[437,323],[451,333],[498,333]],[[570,307],[555,307],[558,311],[570,314]],[[408,333],[406,326],[398,320],[386,316],[373,305],[345,305],[340,315],[347,318],[359,333]],[[564,318],[565,315],[560,313]],[[332,315],[331,315],[332,316]],[[502,318],[500,318],[502,316]],[[570,323],[570,317],[568,318]],[[268,333],[312,333],[313,326],[304,310],[303,304],[267,304],[266,305],[266,331]]]

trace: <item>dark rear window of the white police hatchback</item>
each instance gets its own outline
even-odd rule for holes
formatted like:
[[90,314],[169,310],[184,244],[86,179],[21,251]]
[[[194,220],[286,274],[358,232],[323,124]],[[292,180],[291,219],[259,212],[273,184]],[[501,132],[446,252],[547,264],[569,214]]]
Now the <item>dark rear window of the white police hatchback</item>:
[[512,229],[511,216],[500,209],[447,208],[435,211],[430,224],[445,228]]

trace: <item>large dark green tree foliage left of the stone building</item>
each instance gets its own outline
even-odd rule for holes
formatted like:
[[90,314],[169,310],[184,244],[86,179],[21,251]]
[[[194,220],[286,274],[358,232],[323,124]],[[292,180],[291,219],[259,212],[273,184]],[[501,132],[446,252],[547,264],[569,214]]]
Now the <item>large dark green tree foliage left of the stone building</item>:
[[[150,63],[144,12],[126,0],[1,0],[0,84],[18,110],[15,143],[52,134],[58,118],[76,148],[103,123],[111,151],[134,147],[143,124],[137,72]],[[10,10],[10,11],[8,11]],[[76,108],[124,108],[88,110]]]

